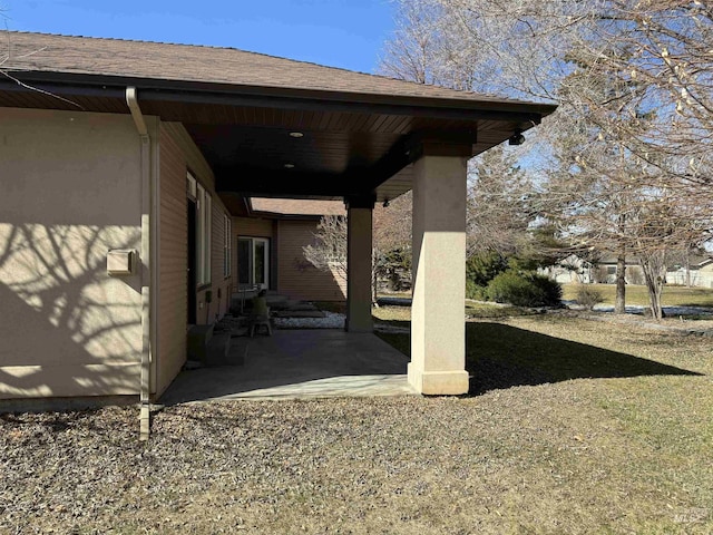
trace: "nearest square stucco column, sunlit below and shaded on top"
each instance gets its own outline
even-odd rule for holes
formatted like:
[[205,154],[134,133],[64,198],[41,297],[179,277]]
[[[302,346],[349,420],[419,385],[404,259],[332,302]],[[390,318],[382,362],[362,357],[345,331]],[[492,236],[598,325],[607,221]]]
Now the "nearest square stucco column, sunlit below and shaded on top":
[[468,392],[467,159],[423,156],[413,178],[413,304],[409,382],[424,395]]

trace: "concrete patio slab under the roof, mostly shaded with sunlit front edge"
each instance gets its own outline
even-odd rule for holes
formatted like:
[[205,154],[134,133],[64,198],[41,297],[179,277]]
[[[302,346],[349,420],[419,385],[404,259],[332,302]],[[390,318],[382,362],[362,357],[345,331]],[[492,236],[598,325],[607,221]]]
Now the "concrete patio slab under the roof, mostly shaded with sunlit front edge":
[[236,339],[245,364],[183,371],[159,402],[416,395],[408,357],[370,333],[275,330]]

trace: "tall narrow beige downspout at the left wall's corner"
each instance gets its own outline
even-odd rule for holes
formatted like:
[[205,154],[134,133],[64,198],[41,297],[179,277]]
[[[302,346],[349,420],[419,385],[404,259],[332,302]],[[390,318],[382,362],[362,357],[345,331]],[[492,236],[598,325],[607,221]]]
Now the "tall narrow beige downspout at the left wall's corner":
[[141,144],[141,360],[140,360],[140,431],[139,440],[150,435],[152,357],[156,341],[156,268],[157,235],[156,176],[152,172],[152,138],[138,105],[135,87],[126,88],[126,104],[131,113]]

